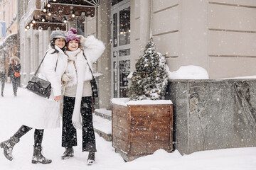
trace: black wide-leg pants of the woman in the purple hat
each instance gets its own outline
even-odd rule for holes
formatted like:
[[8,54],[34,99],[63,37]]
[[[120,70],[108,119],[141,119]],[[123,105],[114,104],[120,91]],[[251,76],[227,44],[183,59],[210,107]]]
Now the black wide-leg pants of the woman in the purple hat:
[[[72,123],[75,97],[64,96],[62,147],[77,146],[77,133]],[[82,97],[82,152],[96,152],[95,132],[92,124],[92,96]]]

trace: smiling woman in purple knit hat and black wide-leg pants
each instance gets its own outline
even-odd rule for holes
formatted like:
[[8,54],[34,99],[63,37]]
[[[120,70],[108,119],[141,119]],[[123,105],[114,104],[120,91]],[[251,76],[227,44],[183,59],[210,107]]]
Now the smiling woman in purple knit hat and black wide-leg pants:
[[[95,132],[92,125],[92,63],[102,55],[105,45],[93,35],[84,38],[71,28],[67,33],[68,67],[63,74],[62,159],[74,156],[77,146],[76,129],[82,128],[82,152],[89,152],[87,164],[95,162]],[[81,117],[81,118],[80,118]],[[81,127],[82,126],[82,127]]]

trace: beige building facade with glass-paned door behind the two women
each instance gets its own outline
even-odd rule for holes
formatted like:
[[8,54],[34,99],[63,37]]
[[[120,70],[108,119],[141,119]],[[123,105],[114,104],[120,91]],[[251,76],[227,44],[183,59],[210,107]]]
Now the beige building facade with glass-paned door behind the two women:
[[[55,1],[18,1],[23,84],[36,71],[48,49],[50,33],[57,28],[77,28],[78,33],[95,35],[105,43],[105,52],[94,64],[98,108],[110,109],[111,98],[127,97],[127,76],[134,71],[150,37],[156,51],[168,52],[166,63],[171,72],[196,65],[206,69],[210,79],[256,74],[254,0],[101,0],[93,8],[93,1],[87,1],[83,9],[73,10],[73,19],[73,11],[63,12],[61,4],[73,8],[76,4],[56,1],[60,4],[58,13],[63,14],[53,14],[55,18],[48,24],[42,24],[42,16],[35,18],[36,13],[49,2],[52,7],[48,9],[54,13]],[[38,24],[25,31],[33,21],[31,15]],[[65,18],[68,23],[64,27]]]

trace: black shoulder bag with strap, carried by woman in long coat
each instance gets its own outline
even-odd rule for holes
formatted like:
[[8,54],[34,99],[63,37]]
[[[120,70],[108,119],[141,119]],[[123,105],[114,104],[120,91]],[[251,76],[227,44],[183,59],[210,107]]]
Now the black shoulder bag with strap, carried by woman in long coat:
[[[46,55],[44,55],[43,60],[45,57]],[[31,81],[28,81],[28,85],[26,86],[26,89],[28,89],[28,91],[33,92],[34,94],[37,94],[38,96],[49,98],[51,93],[50,82],[44,79],[41,79],[37,76],[38,70],[41,67],[41,64],[43,63],[43,60],[39,64],[38,69],[36,69],[36,72],[33,75]],[[56,67],[57,67],[57,63],[58,63],[58,60],[56,62]],[[55,71],[56,71],[56,67],[55,67]]]

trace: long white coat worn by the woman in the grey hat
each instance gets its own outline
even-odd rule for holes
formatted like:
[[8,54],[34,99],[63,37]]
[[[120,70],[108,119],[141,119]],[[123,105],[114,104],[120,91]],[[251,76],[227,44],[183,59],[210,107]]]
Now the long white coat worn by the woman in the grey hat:
[[[24,101],[23,109],[25,111],[22,111],[24,114],[22,123],[31,128],[58,128],[60,125],[60,101],[54,101],[54,96],[61,94],[61,77],[67,67],[68,57],[58,46],[55,45],[55,49],[58,50],[58,53],[52,54],[55,50],[49,46],[38,74],[38,77],[50,81],[52,86],[50,98],[42,98],[36,94],[28,93]],[[37,108],[36,111],[31,109],[31,105],[33,108]]]

